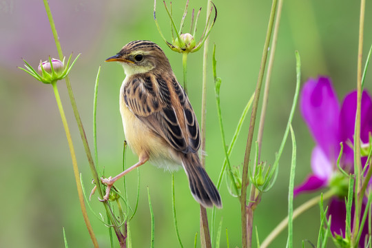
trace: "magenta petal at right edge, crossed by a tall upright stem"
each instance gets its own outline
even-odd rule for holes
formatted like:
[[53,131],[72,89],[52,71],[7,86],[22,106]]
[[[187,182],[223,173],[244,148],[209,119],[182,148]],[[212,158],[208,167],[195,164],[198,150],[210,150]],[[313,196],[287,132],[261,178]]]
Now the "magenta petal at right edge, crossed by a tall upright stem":
[[[353,149],[346,145],[347,141],[353,142],[355,112],[356,112],[357,93],[351,92],[342,103],[340,112],[340,141],[344,143],[344,164],[353,163]],[[369,132],[372,132],[372,101],[367,92],[362,94],[361,110],[361,138],[364,143],[369,140]]]

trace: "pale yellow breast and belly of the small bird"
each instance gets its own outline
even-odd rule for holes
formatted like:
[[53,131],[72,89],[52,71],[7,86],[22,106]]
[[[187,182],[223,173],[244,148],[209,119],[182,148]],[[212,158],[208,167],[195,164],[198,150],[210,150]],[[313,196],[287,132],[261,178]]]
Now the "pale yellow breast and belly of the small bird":
[[125,81],[120,91],[120,112],[127,144],[138,156],[148,155],[149,163],[157,167],[170,171],[179,169],[182,162],[174,149],[137,118],[125,104],[123,96],[124,85]]

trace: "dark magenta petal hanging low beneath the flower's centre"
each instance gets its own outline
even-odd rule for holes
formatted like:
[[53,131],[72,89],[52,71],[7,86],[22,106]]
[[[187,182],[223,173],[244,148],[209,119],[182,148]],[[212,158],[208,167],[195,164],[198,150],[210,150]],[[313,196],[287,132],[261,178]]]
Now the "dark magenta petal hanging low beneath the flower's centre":
[[346,205],[344,200],[332,198],[329,203],[327,216],[331,216],[331,234],[345,237]]

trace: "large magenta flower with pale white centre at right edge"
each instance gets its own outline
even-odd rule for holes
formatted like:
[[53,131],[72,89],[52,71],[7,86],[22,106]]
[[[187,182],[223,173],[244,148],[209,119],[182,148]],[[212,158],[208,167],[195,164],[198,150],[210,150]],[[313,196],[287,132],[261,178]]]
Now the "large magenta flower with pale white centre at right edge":
[[[316,141],[316,147],[311,154],[313,173],[294,189],[295,196],[330,186],[333,178],[340,177],[337,168],[340,142],[344,147],[340,166],[346,171],[353,171],[353,149],[347,143],[353,143],[356,102],[357,93],[351,92],[344,98],[340,107],[328,77],[320,76],[318,79],[309,79],[304,84],[300,96],[300,110],[314,141]],[[372,101],[367,92],[362,94],[361,117],[360,137],[363,143],[368,143],[369,133],[372,132]],[[362,159],[362,165],[365,161],[365,158]],[[344,191],[338,190],[342,200],[332,198],[329,203],[329,215],[332,216],[332,234],[345,234],[346,207],[343,198],[346,194],[344,193],[347,193],[347,184]],[[361,244],[363,240],[364,236],[362,236]]]

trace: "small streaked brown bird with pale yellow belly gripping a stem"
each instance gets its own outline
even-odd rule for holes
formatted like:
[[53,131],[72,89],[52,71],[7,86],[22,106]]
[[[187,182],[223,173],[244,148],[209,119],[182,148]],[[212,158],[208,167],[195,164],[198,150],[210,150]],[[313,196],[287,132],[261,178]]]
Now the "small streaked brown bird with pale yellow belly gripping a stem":
[[218,189],[198,155],[196,115],[161,47],[152,41],[132,41],[105,61],[117,61],[125,72],[120,112],[125,140],[138,163],[114,178],[101,178],[107,185],[103,200],[108,200],[116,180],[149,161],[171,172],[183,167],[195,200],[203,207],[221,208]]

